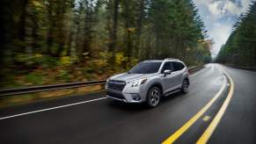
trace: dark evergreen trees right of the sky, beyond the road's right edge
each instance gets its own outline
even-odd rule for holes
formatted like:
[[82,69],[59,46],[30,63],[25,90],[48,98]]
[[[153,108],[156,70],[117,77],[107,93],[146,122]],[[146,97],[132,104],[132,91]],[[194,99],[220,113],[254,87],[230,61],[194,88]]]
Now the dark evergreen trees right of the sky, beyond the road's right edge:
[[216,61],[256,68],[256,2],[237,19],[230,38],[221,48]]

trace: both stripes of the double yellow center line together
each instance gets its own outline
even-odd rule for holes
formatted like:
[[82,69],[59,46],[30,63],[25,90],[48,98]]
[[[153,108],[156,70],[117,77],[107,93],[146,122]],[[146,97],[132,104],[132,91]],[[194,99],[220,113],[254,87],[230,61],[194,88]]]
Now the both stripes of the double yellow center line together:
[[[217,124],[220,122],[220,120],[223,117],[224,112],[227,109],[228,104],[230,103],[230,99],[233,96],[234,92],[234,82],[231,79],[231,77],[224,72],[225,76],[229,79],[230,82],[230,91],[228,93],[228,96],[226,97],[222,107],[217,112],[216,117],[211,121],[206,131],[201,135],[199,140],[196,142],[197,144],[205,144],[207,143],[208,139],[210,138],[211,134],[215,131]],[[216,93],[216,96],[213,97],[208,104],[206,104],[199,112],[197,112],[192,119],[189,119],[187,123],[183,126],[181,126],[175,133],[173,133],[169,138],[167,138],[163,144],[172,144],[175,140],[179,139],[179,137],[187,131],[187,129],[190,126],[193,126],[193,124],[201,118],[201,116],[208,111],[208,108],[215,103],[216,99],[220,97],[223,93],[223,90],[225,89],[226,83],[223,83],[221,89]]]

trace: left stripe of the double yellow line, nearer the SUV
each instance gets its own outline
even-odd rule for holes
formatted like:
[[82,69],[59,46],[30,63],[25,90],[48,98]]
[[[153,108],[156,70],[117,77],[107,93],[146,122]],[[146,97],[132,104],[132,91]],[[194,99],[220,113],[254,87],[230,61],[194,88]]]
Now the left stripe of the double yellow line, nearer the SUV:
[[192,125],[194,124],[194,122],[195,122],[197,119],[201,118],[201,115],[202,115],[204,112],[206,112],[206,111],[208,110],[208,108],[209,108],[212,104],[214,104],[214,102],[216,101],[216,99],[217,99],[218,97],[221,96],[221,94],[223,93],[223,90],[224,90],[224,88],[225,88],[225,86],[226,86],[226,83],[225,83],[225,82],[226,82],[226,79],[225,79],[225,81],[224,81],[224,83],[223,83],[223,85],[222,85],[222,88],[216,93],[215,97],[213,97],[213,98],[208,102],[208,104],[206,104],[206,105],[200,110],[200,112],[197,112],[197,113],[194,115],[194,117],[193,117],[192,119],[189,119],[185,125],[181,126],[181,127],[179,128],[179,130],[177,130],[175,133],[173,133],[169,138],[167,138],[167,139],[166,139],[164,142],[162,142],[162,143],[163,143],[163,144],[171,144],[172,142],[174,142],[175,140],[177,140],[177,139],[179,138],[179,136],[182,135],[182,133],[185,133],[185,132],[187,131],[187,129],[188,129],[190,126],[192,126]]

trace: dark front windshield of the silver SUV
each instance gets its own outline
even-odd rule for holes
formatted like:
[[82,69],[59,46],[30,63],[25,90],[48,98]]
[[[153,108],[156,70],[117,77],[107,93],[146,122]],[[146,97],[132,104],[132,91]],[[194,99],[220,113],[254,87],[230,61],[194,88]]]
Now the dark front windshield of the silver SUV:
[[141,62],[128,71],[128,74],[152,74],[157,73],[162,62]]

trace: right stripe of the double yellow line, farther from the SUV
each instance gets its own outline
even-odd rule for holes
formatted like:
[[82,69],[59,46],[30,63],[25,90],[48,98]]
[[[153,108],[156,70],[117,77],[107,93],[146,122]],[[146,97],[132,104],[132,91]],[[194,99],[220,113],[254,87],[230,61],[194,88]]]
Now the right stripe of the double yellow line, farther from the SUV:
[[225,73],[226,76],[228,76],[228,78],[230,80],[230,91],[229,91],[228,97],[225,99],[221,109],[219,110],[219,112],[217,112],[216,117],[209,124],[206,131],[204,133],[202,133],[200,139],[196,142],[196,144],[205,144],[205,143],[207,143],[207,141],[210,138],[210,136],[212,135],[212,133],[214,133],[214,131],[216,129],[216,126],[218,125],[218,123],[222,119],[223,114],[226,111],[228,105],[230,104],[230,99],[233,96],[235,86],[234,86],[234,82],[233,82],[232,78],[226,72],[224,72],[224,73]]

